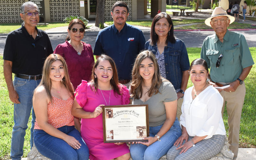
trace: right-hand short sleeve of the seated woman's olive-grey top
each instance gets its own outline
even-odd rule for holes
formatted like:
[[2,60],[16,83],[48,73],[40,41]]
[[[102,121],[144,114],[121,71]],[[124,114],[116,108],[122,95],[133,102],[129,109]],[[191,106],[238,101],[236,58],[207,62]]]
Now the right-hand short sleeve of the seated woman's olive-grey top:
[[162,87],[162,91],[160,92],[162,97],[161,100],[164,102],[172,102],[177,100],[177,93],[171,82],[163,82]]

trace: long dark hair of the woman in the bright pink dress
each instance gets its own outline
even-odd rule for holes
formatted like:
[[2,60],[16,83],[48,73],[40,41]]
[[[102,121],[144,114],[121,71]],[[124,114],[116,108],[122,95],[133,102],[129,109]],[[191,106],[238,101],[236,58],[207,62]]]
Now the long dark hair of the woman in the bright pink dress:
[[100,63],[100,60],[108,60],[109,61],[110,65],[113,69],[113,78],[110,79],[110,85],[113,87],[115,93],[121,95],[120,89],[118,87],[121,84],[118,83],[116,64],[115,64],[114,60],[111,57],[109,57],[105,54],[101,54],[100,57],[95,62],[95,64],[93,65],[92,77],[91,77],[92,80],[90,81],[92,91],[94,90],[95,92],[97,92],[97,89],[98,89],[98,78],[95,78],[95,76],[94,76],[95,75],[94,69],[97,68],[97,66]]

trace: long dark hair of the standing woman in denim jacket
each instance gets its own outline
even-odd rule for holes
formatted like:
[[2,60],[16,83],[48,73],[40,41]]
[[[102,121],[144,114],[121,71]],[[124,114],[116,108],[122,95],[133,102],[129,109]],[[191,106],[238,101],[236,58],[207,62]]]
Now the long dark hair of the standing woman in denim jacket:
[[170,27],[170,25],[172,25],[171,29],[170,29],[170,35],[169,34],[167,35],[165,43],[168,44],[168,42],[171,42],[171,43],[175,43],[176,42],[176,39],[175,39],[174,34],[173,34],[172,18],[171,18],[171,16],[169,14],[167,14],[165,12],[161,12],[161,13],[156,14],[156,16],[154,17],[153,22],[152,22],[151,31],[150,31],[150,40],[149,40],[150,41],[150,45],[156,45],[156,42],[158,40],[158,35],[155,34],[155,25],[156,25],[156,22],[158,20],[160,20],[161,18],[166,18],[166,20],[169,23],[169,27]]

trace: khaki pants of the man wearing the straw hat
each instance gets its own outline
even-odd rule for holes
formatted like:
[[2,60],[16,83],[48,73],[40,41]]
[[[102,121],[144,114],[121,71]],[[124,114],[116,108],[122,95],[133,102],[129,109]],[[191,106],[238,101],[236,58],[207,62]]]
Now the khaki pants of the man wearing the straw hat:
[[235,92],[220,92],[223,97],[222,117],[225,104],[228,112],[228,144],[229,149],[234,153],[234,159],[237,157],[239,145],[239,130],[242,108],[245,97],[245,84],[239,85]]

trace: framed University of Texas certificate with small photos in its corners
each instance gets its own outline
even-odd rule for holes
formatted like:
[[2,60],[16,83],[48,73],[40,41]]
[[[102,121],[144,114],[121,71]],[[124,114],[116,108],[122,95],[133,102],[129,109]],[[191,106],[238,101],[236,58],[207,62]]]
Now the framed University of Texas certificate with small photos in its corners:
[[102,106],[104,143],[148,141],[148,105]]

